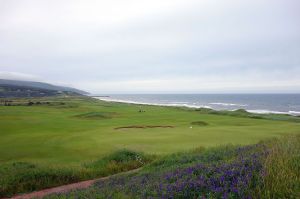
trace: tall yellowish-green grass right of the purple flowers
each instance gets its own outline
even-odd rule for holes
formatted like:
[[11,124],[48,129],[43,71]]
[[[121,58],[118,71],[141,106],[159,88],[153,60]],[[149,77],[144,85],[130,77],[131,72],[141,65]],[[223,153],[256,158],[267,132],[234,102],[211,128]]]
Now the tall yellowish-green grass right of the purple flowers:
[[291,135],[268,143],[263,185],[257,198],[300,198],[300,136]]

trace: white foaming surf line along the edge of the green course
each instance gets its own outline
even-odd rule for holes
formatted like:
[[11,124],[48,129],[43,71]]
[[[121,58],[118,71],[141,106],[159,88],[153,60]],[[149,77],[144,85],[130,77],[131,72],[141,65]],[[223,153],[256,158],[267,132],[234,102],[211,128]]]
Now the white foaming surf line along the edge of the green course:
[[[163,107],[183,107],[183,108],[191,108],[191,109],[199,109],[199,108],[206,108],[206,109],[211,109],[214,111],[236,111],[238,109],[233,109],[233,110],[228,110],[228,109],[214,109],[211,106],[199,106],[199,105],[190,105],[190,104],[176,104],[176,103],[171,103],[171,104],[164,104],[164,103],[147,103],[147,102],[137,102],[137,101],[131,101],[131,100],[119,100],[119,99],[112,99],[109,97],[92,97],[94,99],[102,100],[105,102],[116,102],[116,103],[124,103],[124,104],[136,104],[136,105],[150,105],[150,106],[163,106]],[[216,103],[211,103],[211,104],[216,104]],[[241,107],[246,107],[245,105]],[[271,111],[271,110],[264,110],[264,109],[244,109],[241,108],[248,113],[253,113],[253,114],[261,114],[261,115],[267,115],[267,114],[278,114],[278,115],[290,115],[290,116],[295,116],[298,117],[300,116],[300,112],[298,111],[288,111],[288,112],[283,112],[283,111]]]

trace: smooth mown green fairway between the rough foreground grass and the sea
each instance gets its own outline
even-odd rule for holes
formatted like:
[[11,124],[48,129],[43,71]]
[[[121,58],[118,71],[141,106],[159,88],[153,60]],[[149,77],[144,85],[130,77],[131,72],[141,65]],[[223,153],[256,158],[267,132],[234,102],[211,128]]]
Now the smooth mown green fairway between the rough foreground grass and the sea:
[[80,165],[124,148],[162,155],[196,147],[246,145],[300,133],[299,122],[178,107],[71,97],[33,101],[51,103],[0,107],[1,163]]

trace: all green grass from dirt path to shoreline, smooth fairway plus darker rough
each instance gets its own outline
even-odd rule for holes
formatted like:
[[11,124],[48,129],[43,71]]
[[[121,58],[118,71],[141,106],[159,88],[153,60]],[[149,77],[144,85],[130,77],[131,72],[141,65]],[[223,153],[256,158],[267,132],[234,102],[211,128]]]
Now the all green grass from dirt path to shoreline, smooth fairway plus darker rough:
[[[87,97],[30,100],[50,103],[27,106],[28,99],[13,99],[18,106],[0,106],[3,193],[37,190],[141,166],[124,151],[129,162],[107,161],[109,154],[123,149],[138,151],[149,162],[154,156],[199,147],[248,145],[300,133],[300,118],[287,115],[133,105]],[[120,128],[133,126],[172,128]]]

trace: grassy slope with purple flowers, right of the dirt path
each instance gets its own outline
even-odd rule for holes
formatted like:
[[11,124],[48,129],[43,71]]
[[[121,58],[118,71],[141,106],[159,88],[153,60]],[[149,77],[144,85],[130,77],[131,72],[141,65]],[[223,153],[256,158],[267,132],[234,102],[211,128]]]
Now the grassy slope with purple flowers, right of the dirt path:
[[300,136],[165,156],[137,174],[47,198],[299,198]]

